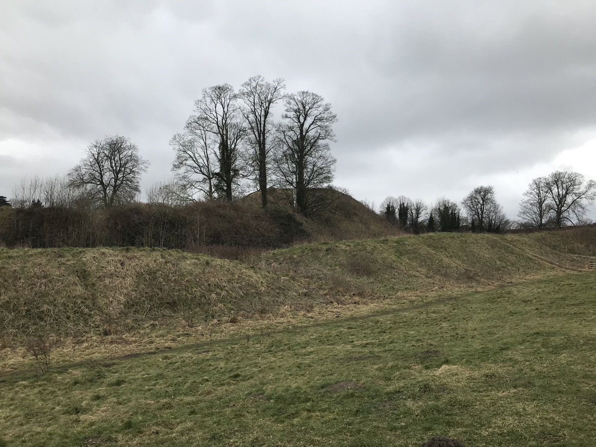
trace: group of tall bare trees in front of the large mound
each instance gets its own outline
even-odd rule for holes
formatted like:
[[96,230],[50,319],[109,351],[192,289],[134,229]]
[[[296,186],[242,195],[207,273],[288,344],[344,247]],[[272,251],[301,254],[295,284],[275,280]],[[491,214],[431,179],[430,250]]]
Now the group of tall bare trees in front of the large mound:
[[[269,185],[291,191],[303,215],[319,206],[320,194],[333,180],[337,115],[324,98],[309,92],[285,93],[283,79],[272,82],[254,76],[236,92],[229,84],[203,89],[184,131],[174,135],[172,170],[175,180],[160,185],[176,200],[231,201],[244,193],[246,181],[268,203]],[[279,122],[273,108],[283,103]],[[158,189],[159,189],[158,188]]]

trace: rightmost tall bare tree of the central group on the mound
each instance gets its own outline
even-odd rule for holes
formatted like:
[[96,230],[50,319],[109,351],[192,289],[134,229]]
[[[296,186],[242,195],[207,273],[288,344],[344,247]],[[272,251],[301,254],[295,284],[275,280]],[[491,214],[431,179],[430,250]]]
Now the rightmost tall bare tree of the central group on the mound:
[[[278,184],[293,188],[298,211],[308,216],[314,212],[312,199],[324,197],[316,190],[333,180],[336,160],[331,156],[329,142],[335,141],[333,124],[337,115],[323,97],[309,91],[286,95],[284,106],[274,157]],[[317,204],[321,206],[320,201]]]

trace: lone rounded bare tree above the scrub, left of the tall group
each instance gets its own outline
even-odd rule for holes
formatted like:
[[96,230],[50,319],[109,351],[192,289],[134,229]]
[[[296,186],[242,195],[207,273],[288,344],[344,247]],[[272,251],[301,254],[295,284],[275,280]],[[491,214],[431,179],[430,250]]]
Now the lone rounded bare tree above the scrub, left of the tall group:
[[125,136],[106,136],[89,145],[85,157],[69,172],[70,185],[103,207],[134,200],[141,173],[149,162]]

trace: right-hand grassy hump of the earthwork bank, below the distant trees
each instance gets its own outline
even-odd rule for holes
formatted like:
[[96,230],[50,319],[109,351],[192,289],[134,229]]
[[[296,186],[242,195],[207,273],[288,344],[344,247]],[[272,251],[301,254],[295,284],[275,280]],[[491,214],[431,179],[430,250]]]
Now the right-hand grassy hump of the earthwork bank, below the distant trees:
[[390,297],[513,283],[573,271],[585,260],[524,235],[431,233],[274,250],[263,264],[280,275],[310,278],[328,293]]

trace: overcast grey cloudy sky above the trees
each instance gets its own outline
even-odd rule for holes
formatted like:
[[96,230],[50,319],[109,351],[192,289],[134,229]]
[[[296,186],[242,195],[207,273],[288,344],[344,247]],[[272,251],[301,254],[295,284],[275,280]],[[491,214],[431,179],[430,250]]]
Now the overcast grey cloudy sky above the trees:
[[[0,195],[120,134],[169,179],[201,89],[250,76],[311,90],[339,122],[337,185],[510,217],[555,169],[596,179],[596,1],[3,0]],[[596,208],[591,217],[596,219]]]

